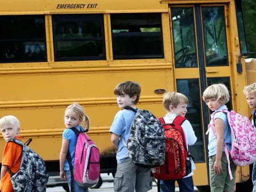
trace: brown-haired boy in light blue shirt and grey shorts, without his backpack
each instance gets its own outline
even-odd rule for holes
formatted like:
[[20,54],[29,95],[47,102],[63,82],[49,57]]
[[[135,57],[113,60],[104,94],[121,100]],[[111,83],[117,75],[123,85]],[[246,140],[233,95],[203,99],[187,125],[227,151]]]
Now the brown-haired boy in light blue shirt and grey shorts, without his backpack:
[[[140,97],[140,85],[136,82],[119,83],[114,90],[119,108],[132,107]],[[152,188],[150,168],[140,167],[132,162],[128,149],[123,145],[130,137],[130,126],[134,118],[134,111],[119,110],[110,127],[111,142],[117,148],[117,171],[114,179],[114,191],[118,192],[146,192]]]

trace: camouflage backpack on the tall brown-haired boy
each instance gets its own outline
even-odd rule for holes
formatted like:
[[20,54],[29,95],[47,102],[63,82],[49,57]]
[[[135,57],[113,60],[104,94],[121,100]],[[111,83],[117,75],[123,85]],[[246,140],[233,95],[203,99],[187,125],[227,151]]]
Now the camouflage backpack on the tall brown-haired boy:
[[125,107],[135,112],[127,141],[129,156],[139,166],[156,167],[164,163],[165,135],[161,122],[148,110]]

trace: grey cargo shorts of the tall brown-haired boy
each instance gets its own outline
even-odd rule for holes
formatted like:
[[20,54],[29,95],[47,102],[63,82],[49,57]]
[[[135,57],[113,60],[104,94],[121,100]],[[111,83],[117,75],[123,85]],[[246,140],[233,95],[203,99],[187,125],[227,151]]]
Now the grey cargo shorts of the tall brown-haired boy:
[[132,162],[131,158],[125,158],[117,164],[114,179],[114,191],[118,192],[146,192],[152,189],[150,168],[140,167]]

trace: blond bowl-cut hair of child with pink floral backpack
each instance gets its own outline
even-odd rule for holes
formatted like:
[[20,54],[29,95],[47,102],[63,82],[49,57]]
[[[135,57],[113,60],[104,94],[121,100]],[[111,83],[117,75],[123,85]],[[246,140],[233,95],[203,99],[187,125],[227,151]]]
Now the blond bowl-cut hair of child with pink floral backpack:
[[216,99],[220,102],[227,103],[229,101],[228,88],[224,84],[212,84],[204,90],[203,100]]

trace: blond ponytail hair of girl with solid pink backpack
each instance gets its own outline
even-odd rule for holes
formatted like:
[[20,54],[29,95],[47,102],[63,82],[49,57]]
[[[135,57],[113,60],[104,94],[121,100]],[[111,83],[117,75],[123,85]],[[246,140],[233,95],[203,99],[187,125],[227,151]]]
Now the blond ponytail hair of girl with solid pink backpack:
[[71,109],[76,113],[77,118],[80,121],[80,124],[84,127],[86,131],[89,131],[90,119],[87,115],[85,115],[84,108],[81,105],[79,105],[77,102],[74,102],[66,108],[65,114],[68,109]]

